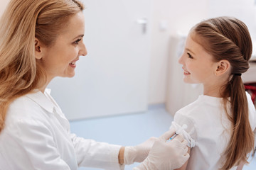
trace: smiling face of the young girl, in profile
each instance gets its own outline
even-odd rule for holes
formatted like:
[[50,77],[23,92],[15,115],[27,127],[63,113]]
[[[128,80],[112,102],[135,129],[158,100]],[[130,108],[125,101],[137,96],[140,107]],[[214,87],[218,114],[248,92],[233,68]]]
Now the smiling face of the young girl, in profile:
[[[194,35],[192,33],[192,35]],[[196,37],[196,36],[193,36]],[[182,64],[183,81],[190,84],[213,84],[215,78],[216,62],[203,47],[191,38],[186,39],[185,50],[178,60]]]

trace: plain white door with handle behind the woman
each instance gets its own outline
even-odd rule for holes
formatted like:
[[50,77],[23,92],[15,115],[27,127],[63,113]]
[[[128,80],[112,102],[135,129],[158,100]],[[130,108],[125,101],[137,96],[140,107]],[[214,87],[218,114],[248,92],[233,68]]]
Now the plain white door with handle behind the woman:
[[52,96],[70,120],[146,111],[150,0],[84,0],[88,55]]

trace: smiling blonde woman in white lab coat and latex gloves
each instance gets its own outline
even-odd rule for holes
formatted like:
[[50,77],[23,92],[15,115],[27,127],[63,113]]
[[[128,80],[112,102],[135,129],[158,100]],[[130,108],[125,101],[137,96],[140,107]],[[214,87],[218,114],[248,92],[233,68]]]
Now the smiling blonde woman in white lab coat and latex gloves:
[[[179,135],[164,133],[135,147],[85,140],[46,86],[73,77],[87,55],[83,6],[76,0],[11,0],[0,23],[0,169],[175,169],[189,155]],[[152,147],[153,145],[153,147]],[[145,160],[144,160],[145,159]]]

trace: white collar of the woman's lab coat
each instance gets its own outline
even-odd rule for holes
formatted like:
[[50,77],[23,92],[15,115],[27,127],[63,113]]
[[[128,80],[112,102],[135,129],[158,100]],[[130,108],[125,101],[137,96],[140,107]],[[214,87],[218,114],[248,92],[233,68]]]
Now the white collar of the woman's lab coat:
[[54,104],[52,101],[50,101],[50,98],[46,97],[47,94],[50,95],[50,89],[46,89],[44,91],[44,94],[40,90],[35,89],[26,96],[28,96],[28,98],[31,98],[32,101],[38,103],[38,105],[44,108],[46,111],[53,113]]

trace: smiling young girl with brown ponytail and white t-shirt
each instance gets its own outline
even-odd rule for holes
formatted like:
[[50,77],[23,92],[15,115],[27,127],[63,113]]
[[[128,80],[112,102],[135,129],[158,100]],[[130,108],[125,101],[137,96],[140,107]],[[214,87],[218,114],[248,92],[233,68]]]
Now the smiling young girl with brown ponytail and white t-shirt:
[[183,136],[191,157],[181,169],[237,169],[254,148],[255,107],[241,74],[249,69],[252,41],[245,23],[219,17],[194,26],[179,59],[183,81],[203,84],[203,95],[181,108],[171,128]]

